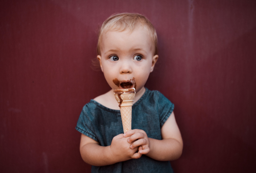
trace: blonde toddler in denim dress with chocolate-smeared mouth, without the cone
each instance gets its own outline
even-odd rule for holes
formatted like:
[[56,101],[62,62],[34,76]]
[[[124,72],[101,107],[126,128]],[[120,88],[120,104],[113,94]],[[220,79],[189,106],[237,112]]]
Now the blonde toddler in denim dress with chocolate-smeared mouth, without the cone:
[[[174,105],[159,91],[144,87],[157,62],[157,34],[140,14],[109,17],[99,31],[97,59],[112,88],[87,103],[76,130],[80,152],[93,173],[172,173],[183,142]],[[132,130],[123,134],[113,90],[135,88]]]

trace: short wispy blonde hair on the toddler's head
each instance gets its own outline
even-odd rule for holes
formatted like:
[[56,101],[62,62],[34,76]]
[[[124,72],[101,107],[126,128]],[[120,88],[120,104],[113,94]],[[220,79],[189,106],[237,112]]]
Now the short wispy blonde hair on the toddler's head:
[[107,20],[105,20],[105,22],[102,24],[99,30],[97,54],[101,55],[100,48],[102,37],[107,31],[125,31],[126,29],[133,31],[138,26],[143,26],[146,28],[148,36],[150,37],[152,42],[152,48],[154,49],[153,53],[154,55],[156,55],[158,53],[157,32],[152,23],[145,16],[135,13],[114,14]]

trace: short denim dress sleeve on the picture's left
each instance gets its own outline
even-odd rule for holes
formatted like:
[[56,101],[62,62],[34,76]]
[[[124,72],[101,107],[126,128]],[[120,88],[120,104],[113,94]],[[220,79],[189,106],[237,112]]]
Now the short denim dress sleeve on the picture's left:
[[93,116],[90,116],[90,111],[88,111],[88,104],[84,106],[79,119],[76,124],[76,130],[84,135],[90,137],[91,139],[99,142],[95,133],[93,132],[93,123],[92,123]]

